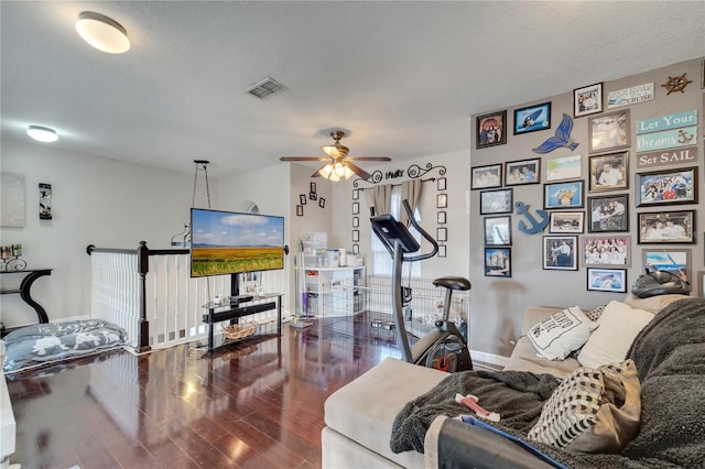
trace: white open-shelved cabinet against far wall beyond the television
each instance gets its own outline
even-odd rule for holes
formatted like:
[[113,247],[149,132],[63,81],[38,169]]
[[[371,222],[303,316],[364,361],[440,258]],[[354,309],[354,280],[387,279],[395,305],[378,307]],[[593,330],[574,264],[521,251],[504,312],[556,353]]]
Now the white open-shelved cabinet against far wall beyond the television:
[[304,268],[306,315],[352,316],[365,309],[365,268]]

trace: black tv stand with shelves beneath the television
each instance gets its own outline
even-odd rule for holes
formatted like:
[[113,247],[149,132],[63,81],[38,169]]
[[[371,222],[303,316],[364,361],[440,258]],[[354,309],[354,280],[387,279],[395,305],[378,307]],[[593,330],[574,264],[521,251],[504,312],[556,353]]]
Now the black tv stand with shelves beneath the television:
[[[230,296],[230,302],[210,302],[206,305],[203,305],[203,307],[208,310],[207,314],[203,315],[203,321],[208,325],[208,352],[213,352],[213,350],[217,348],[213,330],[213,327],[217,323],[230,320],[231,324],[237,324],[239,318],[257,313],[276,309],[276,335],[281,336],[282,296],[283,294],[281,293],[265,293],[259,296],[235,295]],[[238,297],[238,299],[231,299],[235,297]]]

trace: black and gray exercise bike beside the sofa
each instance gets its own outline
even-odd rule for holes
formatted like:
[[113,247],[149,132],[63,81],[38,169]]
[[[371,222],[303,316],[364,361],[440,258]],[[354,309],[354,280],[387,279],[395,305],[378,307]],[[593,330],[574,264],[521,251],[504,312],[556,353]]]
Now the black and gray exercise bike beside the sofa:
[[459,276],[445,276],[433,281],[435,286],[446,288],[443,304],[443,318],[436,320],[435,329],[421,337],[413,346],[409,345],[406,327],[404,325],[403,308],[412,298],[411,288],[402,286],[402,264],[417,262],[433,258],[438,252],[438,243],[414,219],[408,200],[402,205],[411,226],[425,238],[433,249],[430,252],[412,255],[421,249],[421,244],[413,238],[406,227],[397,221],[393,216],[380,215],[370,218],[372,231],[382,241],[382,244],[393,260],[392,265],[392,293],[393,293],[393,319],[397,328],[397,342],[401,348],[402,359],[409,363],[422,367],[435,368],[444,371],[463,371],[473,369],[473,360],[467,342],[455,323],[448,319],[451,313],[451,296],[454,290],[470,290],[470,282]]

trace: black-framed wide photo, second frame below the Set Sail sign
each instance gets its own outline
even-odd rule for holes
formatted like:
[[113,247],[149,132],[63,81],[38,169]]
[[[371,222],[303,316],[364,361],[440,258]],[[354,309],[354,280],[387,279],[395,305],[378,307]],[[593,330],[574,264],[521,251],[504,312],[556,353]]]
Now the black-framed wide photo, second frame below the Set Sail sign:
[[639,244],[695,243],[695,210],[637,214]]

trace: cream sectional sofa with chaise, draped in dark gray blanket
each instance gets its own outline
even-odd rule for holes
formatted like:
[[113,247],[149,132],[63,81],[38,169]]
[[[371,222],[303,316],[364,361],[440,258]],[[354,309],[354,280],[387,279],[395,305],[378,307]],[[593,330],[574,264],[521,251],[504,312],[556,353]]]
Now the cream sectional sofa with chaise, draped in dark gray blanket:
[[[522,335],[501,372],[451,375],[387,358],[326,400],[323,467],[705,467],[705,301],[683,295],[641,299],[628,294],[621,302],[596,309],[584,314],[618,314],[596,317],[597,326],[582,350],[572,351],[564,359],[541,356],[529,337],[539,324],[562,312],[556,307],[524,309]],[[622,314],[627,309],[630,314]],[[640,315],[634,324],[608,323],[610,317],[630,318],[634,312]],[[554,390],[586,369],[578,359],[598,335],[603,342],[596,340],[598,348],[593,347],[597,356],[611,342],[623,342],[622,336],[629,338],[626,346],[617,345],[617,353],[636,364],[634,434],[620,443],[621,449],[606,452],[572,451],[528,440],[529,429],[543,418],[542,408]],[[585,360],[588,358],[586,355]],[[460,422],[458,415],[471,414],[462,404],[437,402],[437,396],[465,377],[475,380],[476,388],[469,391],[479,395],[478,403],[502,416],[499,423],[485,423],[492,432]],[[517,408],[511,408],[511,403],[499,405],[494,396],[501,393],[492,390],[502,386],[507,391],[511,386],[501,381],[508,380],[533,380],[532,386],[542,391],[528,393],[522,389],[517,394]],[[434,400],[436,407],[421,406]],[[406,443],[412,441],[414,449],[400,450],[400,425],[408,422],[413,423],[403,437]]]

